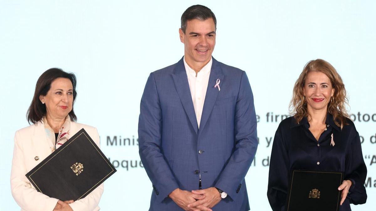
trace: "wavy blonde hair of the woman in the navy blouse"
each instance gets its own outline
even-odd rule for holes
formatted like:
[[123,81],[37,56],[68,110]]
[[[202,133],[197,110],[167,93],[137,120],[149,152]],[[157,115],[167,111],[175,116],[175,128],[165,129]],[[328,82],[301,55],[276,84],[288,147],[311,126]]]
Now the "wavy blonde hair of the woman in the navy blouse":
[[293,98],[289,106],[290,114],[294,116],[298,124],[303,117],[308,118],[310,115],[307,110],[303,87],[305,86],[307,75],[311,71],[323,72],[330,79],[334,88],[334,95],[327,105],[327,111],[333,115],[334,123],[342,129],[344,125],[347,125],[346,119],[349,117],[346,111],[348,100],[345,85],[335,68],[323,59],[311,60],[305,65],[294,85]]

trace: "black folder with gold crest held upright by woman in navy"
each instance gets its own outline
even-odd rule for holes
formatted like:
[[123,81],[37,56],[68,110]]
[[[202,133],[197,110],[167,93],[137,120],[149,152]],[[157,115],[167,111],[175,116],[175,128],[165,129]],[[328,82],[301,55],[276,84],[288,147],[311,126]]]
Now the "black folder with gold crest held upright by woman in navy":
[[286,211],[338,211],[342,172],[292,170]]

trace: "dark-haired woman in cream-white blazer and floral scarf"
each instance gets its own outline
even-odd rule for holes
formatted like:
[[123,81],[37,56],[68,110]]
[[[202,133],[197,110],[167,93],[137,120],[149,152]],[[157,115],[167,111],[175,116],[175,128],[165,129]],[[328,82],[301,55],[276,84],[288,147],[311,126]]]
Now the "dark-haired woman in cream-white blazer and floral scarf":
[[33,125],[16,131],[14,137],[11,190],[21,211],[99,210],[103,183],[83,199],[63,202],[36,191],[25,176],[82,128],[99,146],[97,129],[75,122],[73,104],[76,96],[75,75],[58,68],[45,71],[36,83],[27,111],[27,120]]

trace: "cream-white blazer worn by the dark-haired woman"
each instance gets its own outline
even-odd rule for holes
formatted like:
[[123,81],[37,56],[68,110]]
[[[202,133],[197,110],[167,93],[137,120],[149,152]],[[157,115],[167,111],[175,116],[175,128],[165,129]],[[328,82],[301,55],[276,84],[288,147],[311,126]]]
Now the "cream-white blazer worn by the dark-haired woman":
[[[97,128],[71,122],[70,134],[74,135],[82,128],[86,130],[99,146]],[[52,153],[52,148],[53,143],[47,140],[42,122],[16,131],[11,171],[11,190],[14,200],[21,207],[21,211],[52,211],[56,203],[58,203],[58,199],[36,191],[25,176],[27,172]],[[36,156],[39,157],[38,160],[35,159]],[[102,193],[103,183],[85,198],[79,199],[69,205],[74,211],[99,210],[98,204]]]

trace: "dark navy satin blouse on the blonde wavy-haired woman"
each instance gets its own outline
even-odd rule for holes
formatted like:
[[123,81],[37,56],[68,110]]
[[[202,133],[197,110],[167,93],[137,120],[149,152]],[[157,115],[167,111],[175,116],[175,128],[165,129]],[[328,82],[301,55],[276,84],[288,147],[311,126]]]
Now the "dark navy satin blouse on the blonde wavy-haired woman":
[[[348,125],[341,130],[329,113],[325,123],[318,141],[308,129],[307,118],[297,124],[295,118],[290,117],[279,124],[271,149],[267,192],[273,211],[285,210],[291,169],[344,172],[344,179],[353,184],[340,211],[351,211],[350,203],[365,203],[367,167],[355,125],[347,119]],[[334,146],[331,145],[332,134]]]

